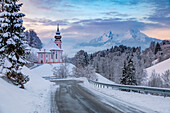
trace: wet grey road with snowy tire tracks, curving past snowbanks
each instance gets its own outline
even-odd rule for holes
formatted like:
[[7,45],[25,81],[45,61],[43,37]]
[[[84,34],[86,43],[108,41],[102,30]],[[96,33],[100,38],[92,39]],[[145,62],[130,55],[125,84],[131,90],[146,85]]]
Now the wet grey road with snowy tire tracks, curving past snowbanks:
[[[99,95],[79,84],[80,81],[56,81],[60,87],[57,89],[53,113],[144,113],[141,109],[122,103],[117,99],[107,100],[107,95]],[[105,98],[106,102],[101,101]],[[114,100],[114,101],[112,101]]]

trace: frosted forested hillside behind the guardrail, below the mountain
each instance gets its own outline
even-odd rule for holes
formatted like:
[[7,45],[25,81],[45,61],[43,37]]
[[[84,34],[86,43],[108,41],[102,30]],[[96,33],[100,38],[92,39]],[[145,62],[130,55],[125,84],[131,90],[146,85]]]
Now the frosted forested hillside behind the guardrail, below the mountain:
[[144,69],[170,58],[167,51],[170,51],[170,41],[151,42],[150,47],[144,51],[140,47],[120,45],[93,54],[81,50],[71,62],[78,68],[90,65],[97,73],[116,83],[122,83],[125,77],[133,79],[136,85],[141,85],[147,76]]

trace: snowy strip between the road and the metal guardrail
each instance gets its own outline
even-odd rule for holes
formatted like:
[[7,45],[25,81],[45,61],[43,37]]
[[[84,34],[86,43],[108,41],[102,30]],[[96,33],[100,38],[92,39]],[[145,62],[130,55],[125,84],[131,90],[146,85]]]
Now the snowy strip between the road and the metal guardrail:
[[98,88],[90,84],[87,80],[84,81],[84,84],[82,84],[82,86],[88,88],[96,95],[103,97],[102,101],[109,105],[112,105],[112,100],[116,99],[124,104],[132,105],[142,110],[145,109],[146,111],[151,110],[152,112],[159,113],[169,113],[170,111],[170,97],[164,98],[163,96],[124,92],[113,90],[111,88]]

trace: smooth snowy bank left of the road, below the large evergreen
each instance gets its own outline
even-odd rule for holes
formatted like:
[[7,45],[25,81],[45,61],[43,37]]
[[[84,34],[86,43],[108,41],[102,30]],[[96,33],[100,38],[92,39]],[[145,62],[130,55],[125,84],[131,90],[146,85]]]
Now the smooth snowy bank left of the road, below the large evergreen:
[[44,80],[27,67],[22,72],[30,77],[25,89],[0,78],[0,113],[50,113],[53,83]]

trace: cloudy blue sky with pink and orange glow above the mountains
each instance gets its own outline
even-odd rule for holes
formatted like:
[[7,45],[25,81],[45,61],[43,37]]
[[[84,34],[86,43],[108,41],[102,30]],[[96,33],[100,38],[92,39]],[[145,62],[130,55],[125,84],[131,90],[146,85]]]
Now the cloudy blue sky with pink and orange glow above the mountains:
[[[170,0],[20,0],[24,26],[43,43],[53,38],[57,23],[65,45],[89,41],[103,33],[141,30],[170,39]],[[67,49],[67,48],[65,48]]]

